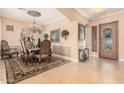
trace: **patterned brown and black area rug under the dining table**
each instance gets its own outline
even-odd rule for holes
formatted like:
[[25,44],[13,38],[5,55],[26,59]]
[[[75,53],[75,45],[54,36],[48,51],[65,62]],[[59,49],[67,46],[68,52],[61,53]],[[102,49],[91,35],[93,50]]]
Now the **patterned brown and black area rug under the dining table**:
[[13,84],[29,77],[38,75],[50,69],[68,63],[68,60],[52,57],[50,62],[40,62],[26,65],[19,58],[4,59],[7,83]]

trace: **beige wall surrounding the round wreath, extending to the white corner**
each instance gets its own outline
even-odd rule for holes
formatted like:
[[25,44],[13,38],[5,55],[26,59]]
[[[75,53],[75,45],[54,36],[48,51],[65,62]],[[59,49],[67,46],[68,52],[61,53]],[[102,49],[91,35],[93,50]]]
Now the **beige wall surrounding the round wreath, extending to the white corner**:
[[[60,43],[52,43],[52,45],[58,46],[68,46],[71,48],[71,59],[78,60],[78,22],[69,21],[67,18],[62,18],[54,23],[47,24],[45,27],[45,33],[50,33],[51,30],[60,28],[67,29],[69,31],[69,36],[66,40],[61,37],[60,34]],[[66,50],[68,51],[68,50]],[[63,51],[64,52],[64,51]]]

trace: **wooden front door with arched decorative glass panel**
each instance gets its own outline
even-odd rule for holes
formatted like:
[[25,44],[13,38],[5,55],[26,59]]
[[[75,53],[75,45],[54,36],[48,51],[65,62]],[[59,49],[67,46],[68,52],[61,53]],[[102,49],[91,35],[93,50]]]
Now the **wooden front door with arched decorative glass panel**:
[[118,59],[118,21],[99,25],[99,56]]

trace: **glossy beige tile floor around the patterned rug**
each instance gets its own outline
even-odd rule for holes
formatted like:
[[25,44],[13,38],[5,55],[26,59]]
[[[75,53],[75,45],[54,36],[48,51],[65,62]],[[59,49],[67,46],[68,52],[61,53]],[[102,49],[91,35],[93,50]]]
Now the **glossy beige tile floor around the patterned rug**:
[[[5,68],[0,62],[0,80],[5,83]],[[25,79],[18,84],[37,83],[124,83],[124,62],[90,58],[85,63],[70,62]]]

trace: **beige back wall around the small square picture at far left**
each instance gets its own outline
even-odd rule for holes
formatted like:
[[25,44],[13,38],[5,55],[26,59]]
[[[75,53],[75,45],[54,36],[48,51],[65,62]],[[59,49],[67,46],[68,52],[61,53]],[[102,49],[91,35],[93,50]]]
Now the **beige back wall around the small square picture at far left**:
[[[18,46],[20,45],[19,39],[20,39],[20,32],[21,29],[27,26],[30,26],[31,24],[23,21],[18,21],[15,19],[2,17],[2,39],[7,40],[10,46]],[[14,25],[14,31],[6,31],[6,25]],[[38,37],[41,37],[37,33],[34,35],[36,40]]]

